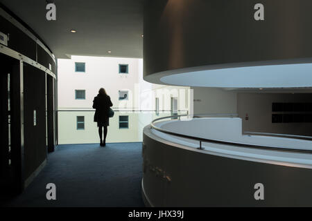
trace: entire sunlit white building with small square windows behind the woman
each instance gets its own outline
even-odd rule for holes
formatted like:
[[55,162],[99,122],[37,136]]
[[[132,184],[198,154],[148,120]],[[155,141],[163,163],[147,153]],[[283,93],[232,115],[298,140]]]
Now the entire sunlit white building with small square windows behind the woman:
[[59,144],[98,142],[93,99],[99,88],[110,95],[115,112],[107,142],[141,142],[144,126],[157,117],[189,113],[189,87],[150,84],[143,59],[72,56],[58,59]]

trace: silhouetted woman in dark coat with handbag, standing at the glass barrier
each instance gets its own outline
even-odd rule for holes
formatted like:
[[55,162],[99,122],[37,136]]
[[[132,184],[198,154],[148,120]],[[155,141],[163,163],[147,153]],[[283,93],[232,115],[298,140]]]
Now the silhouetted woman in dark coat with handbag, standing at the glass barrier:
[[[94,122],[98,122],[98,135],[100,135],[100,145],[105,146],[106,135],[107,135],[107,126],[110,125],[110,118],[108,117],[108,111],[112,106],[110,96],[105,92],[104,88],[98,90],[98,95],[94,97],[93,108],[96,109],[94,114]],[[104,128],[104,140],[102,140],[102,134]]]

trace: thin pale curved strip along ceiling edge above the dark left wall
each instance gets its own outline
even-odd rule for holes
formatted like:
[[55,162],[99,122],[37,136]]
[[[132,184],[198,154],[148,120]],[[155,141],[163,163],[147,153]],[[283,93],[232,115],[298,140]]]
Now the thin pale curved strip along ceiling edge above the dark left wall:
[[[5,10],[3,10],[3,8],[0,8],[0,15],[5,18],[6,20],[10,21],[10,23],[12,23],[15,27],[19,28],[19,30],[21,30],[22,32],[24,32],[26,35],[28,35],[28,37],[30,37],[31,39],[33,39],[33,41],[35,41],[40,47],[42,47],[53,59],[54,63],[55,62],[55,57],[54,55],[52,55],[52,53],[50,52],[50,50],[48,48],[46,48],[46,46],[39,40],[37,39],[37,37],[35,37],[35,35],[33,35],[32,32],[30,32],[27,28],[25,28],[21,23],[19,23],[19,21],[17,21],[16,19],[14,19],[12,16],[10,16],[8,14],[8,12],[6,12]],[[8,33],[4,33],[4,34],[8,34]]]

